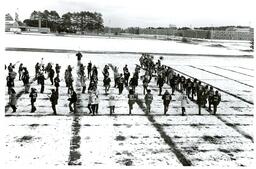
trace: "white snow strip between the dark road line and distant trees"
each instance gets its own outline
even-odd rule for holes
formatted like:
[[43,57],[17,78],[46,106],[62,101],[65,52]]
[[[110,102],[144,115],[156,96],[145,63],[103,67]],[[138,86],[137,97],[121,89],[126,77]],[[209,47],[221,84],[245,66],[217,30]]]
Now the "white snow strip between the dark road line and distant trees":
[[[73,49],[90,51],[122,51],[152,53],[185,53],[185,54],[216,54],[216,55],[251,55],[251,52],[237,48],[216,48],[207,45],[192,45],[176,41],[149,40],[137,38],[108,38],[92,36],[55,36],[55,35],[14,35],[6,33],[6,47]],[[49,43],[51,42],[51,43]],[[230,42],[231,43],[231,42]],[[247,49],[249,49],[249,42]],[[210,44],[210,43],[209,43]],[[214,43],[213,43],[214,44]],[[223,43],[224,44],[224,43]],[[239,43],[236,43],[239,44]],[[246,47],[245,47],[246,48]]]

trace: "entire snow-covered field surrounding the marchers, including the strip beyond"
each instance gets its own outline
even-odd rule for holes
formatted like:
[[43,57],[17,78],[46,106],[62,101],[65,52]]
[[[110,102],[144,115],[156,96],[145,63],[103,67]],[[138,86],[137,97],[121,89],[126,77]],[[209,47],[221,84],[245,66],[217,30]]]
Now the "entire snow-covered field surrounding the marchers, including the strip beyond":
[[[36,35],[5,34],[6,47],[70,49],[91,51],[139,51],[191,54],[251,54],[238,49],[189,45],[177,42],[121,39],[104,37],[56,37]],[[239,44],[239,43],[238,43]],[[244,45],[244,43],[243,43]],[[252,166],[254,162],[253,143],[253,90],[254,61],[241,57],[204,57],[204,56],[164,56],[163,64],[196,77],[223,91],[222,102],[217,115],[202,109],[198,114],[195,103],[189,103],[187,116],[181,116],[180,102],[176,92],[170,104],[168,115],[163,115],[163,104],[158,96],[156,81],[149,84],[154,94],[152,112],[145,115],[145,104],[134,105],[133,115],[128,115],[128,91],[118,95],[113,88],[113,71],[110,69],[111,89],[116,95],[114,116],[109,116],[108,96],[104,94],[102,70],[105,64],[119,67],[125,64],[134,71],[139,64],[139,54],[83,54],[82,63],[92,61],[99,71],[100,104],[99,115],[88,114],[88,94],[81,94],[79,82],[74,83],[79,102],[80,116],[69,113],[67,88],[64,71],[68,65],[74,67],[76,76],[77,60],[75,53],[17,52],[6,51],[8,62],[19,61],[28,68],[31,79],[34,66],[44,58],[44,63],[59,63],[61,67],[60,97],[57,116],[52,115],[47,94],[50,89],[46,80],[45,93],[38,94],[37,111],[30,113],[28,94],[18,99],[18,109],[5,112],[6,132],[4,135],[4,164],[6,166],[211,166],[237,167]],[[155,56],[157,60],[159,56]],[[19,63],[17,65],[19,65]],[[18,66],[15,67],[17,71]],[[86,69],[87,70],[87,69]],[[5,71],[7,75],[7,71]],[[86,71],[87,73],[87,71]],[[141,72],[141,75],[143,71]],[[87,81],[88,86],[89,81]],[[40,91],[33,81],[31,87]],[[16,92],[22,92],[22,82],[15,80]],[[170,87],[165,85],[164,90]],[[6,105],[8,95],[6,88]],[[136,88],[139,99],[143,100],[142,82]],[[233,95],[238,97],[234,97]],[[241,99],[242,98],[242,99]],[[248,102],[246,102],[246,101]]]

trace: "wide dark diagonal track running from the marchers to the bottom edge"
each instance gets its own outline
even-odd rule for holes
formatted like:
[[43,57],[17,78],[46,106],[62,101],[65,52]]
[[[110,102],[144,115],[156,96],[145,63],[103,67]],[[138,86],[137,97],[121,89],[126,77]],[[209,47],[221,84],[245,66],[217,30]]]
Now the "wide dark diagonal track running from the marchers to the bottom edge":
[[[112,64],[109,64],[109,66],[112,68],[113,71],[115,70]],[[126,89],[128,89],[128,87],[126,87]],[[172,140],[172,138],[165,133],[161,124],[157,123],[157,121],[154,119],[154,116],[146,113],[146,108],[143,105],[143,101],[141,99],[138,99],[136,103],[139,105],[142,111],[146,114],[146,117],[151,122],[151,124],[159,132],[164,142],[171,148],[172,152],[176,155],[180,163],[183,166],[191,166],[192,165],[191,161],[187,159],[187,157],[184,154],[182,154],[181,150],[177,147],[176,143]]]

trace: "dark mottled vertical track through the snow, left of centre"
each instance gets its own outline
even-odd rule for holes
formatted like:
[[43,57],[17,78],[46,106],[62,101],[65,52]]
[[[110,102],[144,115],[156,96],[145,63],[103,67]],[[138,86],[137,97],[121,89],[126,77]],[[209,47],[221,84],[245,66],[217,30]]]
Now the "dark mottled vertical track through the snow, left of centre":
[[[78,73],[78,67],[80,66],[80,62],[77,63],[77,73]],[[78,77],[77,77],[78,78]],[[78,82],[78,79],[76,80],[76,92],[78,91],[78,88],[80,89],[80,83]],[[80,99],[80,92],[77,92],[77,100],[78,104],[81,102]],[[73,122],[71,125],[71,130],[72,130],[72,137],[70,140],[70,147],[69,147],[69,157],[68,157],[68,165],[82,165],[82,162],[80,161],[81,158],[81,153],[79,151],[80,144],[81,144],[81,137],[80,137],[80,129],[81,129],[81,124],[80,124],[80,116],[79,116],[79,111],[80,108],[77,106],[77,111],[74,112],[75,114],[73,115]]]

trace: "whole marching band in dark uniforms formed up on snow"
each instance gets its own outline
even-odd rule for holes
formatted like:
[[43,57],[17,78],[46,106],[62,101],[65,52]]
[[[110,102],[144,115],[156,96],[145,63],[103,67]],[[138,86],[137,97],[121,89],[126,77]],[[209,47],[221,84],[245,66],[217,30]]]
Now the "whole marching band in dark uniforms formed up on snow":
[[[99,91],[98,91],[98,68],[90,62],[87,65],[87,76],[85,73],[86,66],[81,63],[81,58],[83,55],[78,52],[76,54],[78,60],[78,70],[77,70],[77,79],[80,83],[82,90],[81,94],[86,93],[86,82],[89,81],[89,85],[87,88],[88,92],[88,105],[89,114],[97,115],[99,109]],[[142,81],[143,86],[143,95],[144,95],[144,103],[146,105],[147,113],[151,113],[151,104],[154,102],[154,96],[151,93],[151,89],[149,84],[152,81],[156,81],[158,86],[159,96],[163,101],[163,113],[167,114],[169,105],[172,101],[172,96],[175,92],[181,93],[180,97],[178,97],[178,101],[181,103],[181,112],[182,115],[185,115],[187,104],[189,100],[195,102],[198,105],[198,114],[201,114],[201,108],[208,108],[208,111],[213,114],[217,112],[217,106],[221,101],[220,93],[213,89],[212,86],[203,85],[202,82],[196,78],[187,78],[185,75],[179,74],[175,72],[171,67],[161,64],[161,57],[154,62],[154,56],[150,54],[142,54],[139,59],[139,64],[136,65],[133,73],[130,73],[128,66],[125,65],[123,67],[122,72],[118,72],[118,68],[113,65],[105,65],[103,68],[103,87],[104,93],[108,95],[110,115],[115,113],[115,102],[116,97],[113,93],[113,89],[110,89],[111,82],[113,80],[114,88],[118,88],[118,93],[121,95],[123,93],[124,88],[127,88],[129,94],[128,98],[128,106],[129,106],[129,114],[132,114],[133,105],[138,101],[138,93],[136,93],[136,87],[139,84],[139,80]],[[8,95],[9,95],[9,105],[13,110],[13,113],[17,110],[17,94],[15,91],[14,80],[17,76],[15,72],[16,64],[10,63],[8,66],[5,66],[5,69],[8,69],[8,76],[6,78],[7,87],[8,87]],[[111,79],[109,69],[113,70],[114,78]],[[46,66],[43,64],[43,58],[41,63],[36,63],[35,65],[35,77],[31,79],[29,72],[26,67],[21,63],[18,67],[18,78],[23,82],[24,85],[24,93],[29,94],[30,102],[31,102],[31,112],[36,111],[35,102],[37,100],[37,96],[40,93],[44,93],[45,89],[45,80],[50,80],[51,85],[54,86],[55,89],[51,89],[51,95],[49,95],[49,100],[52,105],[53,114],[56,115],[56,105],[58,104],[59,99],[59,87],[60,87],[60,69],[61,66],[56,64],[48,63]],[[67,94],[70,96],[68,98],[69,101],[69,110],[70,112],[77,113],[77,104],[78,104],[78,96],[76,90],[74,89],[74,77],[72,75],[74,67],[70,65],[66,68],[64,74],[64,81],[67,88]],[[30,89],[30,81],[37,81],[37,85],[40,85],[40,93],[35,89]],[[163,90],[164,85],[170,86],[170,91]]]

